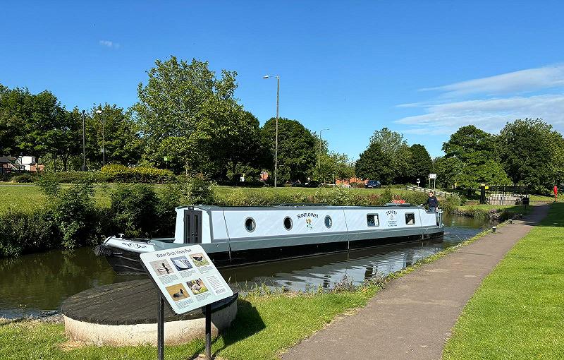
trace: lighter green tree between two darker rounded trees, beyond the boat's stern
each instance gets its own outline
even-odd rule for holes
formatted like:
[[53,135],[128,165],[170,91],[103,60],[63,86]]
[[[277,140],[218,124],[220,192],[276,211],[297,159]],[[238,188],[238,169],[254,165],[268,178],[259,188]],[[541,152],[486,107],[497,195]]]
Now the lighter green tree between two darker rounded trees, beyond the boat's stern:
[[382,153],[386,156],[389,167],[388,184],[403,183],[410,178],[411,152],[403,135],[389,128],[374,131],[370,144],[380,145]]

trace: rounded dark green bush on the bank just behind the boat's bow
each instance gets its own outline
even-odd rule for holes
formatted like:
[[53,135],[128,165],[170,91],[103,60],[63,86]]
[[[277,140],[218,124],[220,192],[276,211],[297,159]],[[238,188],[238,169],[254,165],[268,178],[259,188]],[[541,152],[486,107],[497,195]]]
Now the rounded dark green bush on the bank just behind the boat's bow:
[[157,193],[146,184],[119,186],[111,194],[114,225],[126,236],[150,236],[157,218]]

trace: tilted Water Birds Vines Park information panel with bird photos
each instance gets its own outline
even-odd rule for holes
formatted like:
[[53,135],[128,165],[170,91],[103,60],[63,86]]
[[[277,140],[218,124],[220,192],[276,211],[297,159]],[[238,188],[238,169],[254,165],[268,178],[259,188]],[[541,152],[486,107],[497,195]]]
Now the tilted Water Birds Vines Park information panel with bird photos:
[[176,315],[233,296],[231,287],[200,245],[142,253],[140,257]]

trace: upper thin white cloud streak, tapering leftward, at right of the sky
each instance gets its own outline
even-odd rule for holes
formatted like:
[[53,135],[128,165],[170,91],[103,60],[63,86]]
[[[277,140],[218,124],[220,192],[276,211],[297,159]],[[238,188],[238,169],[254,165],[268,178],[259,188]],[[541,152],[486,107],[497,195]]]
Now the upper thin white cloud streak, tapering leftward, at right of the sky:
[[422,91],[437,90],[443,96],[454,97],[470,94],[502,95],[515,92],[531,92],[564,86],[564,64],[528,68],[490,76],[443,85],[436,88],[424,88]]

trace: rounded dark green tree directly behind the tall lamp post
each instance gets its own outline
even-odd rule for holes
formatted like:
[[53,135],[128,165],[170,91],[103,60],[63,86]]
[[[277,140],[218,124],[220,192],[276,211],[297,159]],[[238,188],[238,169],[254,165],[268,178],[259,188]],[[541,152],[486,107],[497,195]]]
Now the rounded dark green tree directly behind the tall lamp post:
[[[261,136],[268,144],[267,168],[274,174],[276,118],[266,121]],[[305,181],[316,164],[317,152],[314,147],[314,136],[299,121],[278,119],[278,182]]]

